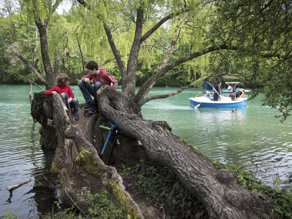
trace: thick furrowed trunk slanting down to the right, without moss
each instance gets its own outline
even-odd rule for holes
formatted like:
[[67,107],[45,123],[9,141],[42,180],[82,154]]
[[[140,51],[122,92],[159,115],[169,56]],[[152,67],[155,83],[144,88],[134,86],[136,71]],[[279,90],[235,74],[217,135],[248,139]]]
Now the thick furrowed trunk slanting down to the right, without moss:
[[150,159],[177,174],[187,189],[206,207],[209,218],[278,218],[271,203],[258,192],[239,185],[237,175],[217,169],[202,154],[180,141],[164,121],[140,118],[135,112],[125,113],[124,105],[134,105],[109,87],[98,91],[100,112],[121,132],[139,139]]

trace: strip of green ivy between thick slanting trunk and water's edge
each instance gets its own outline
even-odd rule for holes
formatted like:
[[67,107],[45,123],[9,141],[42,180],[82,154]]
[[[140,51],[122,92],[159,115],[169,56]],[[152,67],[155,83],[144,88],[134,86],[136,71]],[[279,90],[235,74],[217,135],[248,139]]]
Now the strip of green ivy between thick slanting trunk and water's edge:
[[[283,218],[292,218],[292,196],[289,190],[282,191],[278,189],[277,186],[274,189],[270,186],[266,186],[265,184],[259,182],[253,174],[245,172],[236,165],[230,166],[228,164],[220,164],[218,161],[212,162],[219,168],[225,168],[236,173],[237,180],[246,189],[260,192],[263,195],[270,197],[275,211],[279,212]],[[276,178],[274,185],[279,185],[280,182],[281,180]]]

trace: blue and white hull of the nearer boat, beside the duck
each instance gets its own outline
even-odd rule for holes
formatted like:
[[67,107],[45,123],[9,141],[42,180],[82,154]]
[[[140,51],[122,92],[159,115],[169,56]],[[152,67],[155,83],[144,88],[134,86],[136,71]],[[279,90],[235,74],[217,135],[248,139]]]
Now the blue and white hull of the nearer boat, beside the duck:
[[189,98],[190,99],[190,106],[196,107],[199,105],[198,108],[239,108],[239,107],[246,107],[247,98],[242,98],[238,101],[232,101],[231,98],[226,98],[225,100],[221,101],[213,101],[206,97],[199,97],[199,98]]

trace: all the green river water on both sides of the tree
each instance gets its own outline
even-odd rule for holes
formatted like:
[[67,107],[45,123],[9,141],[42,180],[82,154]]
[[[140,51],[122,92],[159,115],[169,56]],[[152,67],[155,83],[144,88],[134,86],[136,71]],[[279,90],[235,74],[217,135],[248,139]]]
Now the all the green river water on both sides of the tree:
[[[137,88],[138,89],[138,88]],[[154,87],[150,95],[163,95],[178,87]],[[40,149],[40,125],[30,116],[28,85],[0,84],[0,213],[18,211],[22,218],[38,218],[52,211],[55,190],[45,177],[53,152]],[[33,86],[33,92],[41,91]],[[72,91],[85,102],[78,86]],[[276,176],[280,186],[292,186],[292,117],[284,123],[276,109],[261,107],[263,95],[247,102],[235,114],[230,109],[194,109],[190,97],[199,88],[188,88],[178,95],[152,100],[142,107],[145,119],[164,120],[175,135],[187,140],[210,159],[236,164],[273,187]],[[10,193],[6,186],[29,181]],[[1,218],[0,214],[0,218]]]

